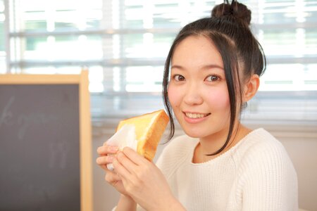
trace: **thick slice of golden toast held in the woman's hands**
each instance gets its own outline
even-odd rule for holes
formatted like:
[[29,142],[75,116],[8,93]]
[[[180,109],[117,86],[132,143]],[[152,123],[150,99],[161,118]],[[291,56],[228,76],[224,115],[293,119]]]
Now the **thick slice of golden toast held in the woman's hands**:
[[153,160],[161,136],[166,129],[169,118],[164,110],[157,110],[119,122],[117,131],[125,124],[135,126],[137,153],[147,160]]

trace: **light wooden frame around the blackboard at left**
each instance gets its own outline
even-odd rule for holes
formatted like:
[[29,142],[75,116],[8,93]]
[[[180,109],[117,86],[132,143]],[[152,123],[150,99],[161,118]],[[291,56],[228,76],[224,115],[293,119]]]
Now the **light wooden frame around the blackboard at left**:
[[78,84],[80,120],[80,210],[92,211],[92,132],[88,71],[79,75],[0,75],[0,84]]

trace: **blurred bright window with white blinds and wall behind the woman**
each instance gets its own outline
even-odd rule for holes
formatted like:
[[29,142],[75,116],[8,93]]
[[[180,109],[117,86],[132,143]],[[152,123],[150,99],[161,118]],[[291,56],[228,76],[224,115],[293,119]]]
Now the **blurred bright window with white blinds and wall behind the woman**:
[[[89,70],[94,210],[118,200],[95,164],[97,147],[119,120],[163,108],[163,64],[175,34],[222,2],[0,0],[0,74]],[[317,210],[317,1],[240,2],[252,11],[268,61],[242,122],[284,144],[299,177],[299,206]]]

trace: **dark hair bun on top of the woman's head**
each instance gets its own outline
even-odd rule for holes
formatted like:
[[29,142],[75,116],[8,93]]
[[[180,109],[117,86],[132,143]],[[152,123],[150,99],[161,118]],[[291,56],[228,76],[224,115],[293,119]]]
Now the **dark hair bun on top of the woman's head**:
[[251,22],[251,11],[247,6],[237,1],[232,1],[231,4],[218,4],[211,11],[211,17],[221,18],[225,16],[238,18],[247,23],[247,25],[250,25]]

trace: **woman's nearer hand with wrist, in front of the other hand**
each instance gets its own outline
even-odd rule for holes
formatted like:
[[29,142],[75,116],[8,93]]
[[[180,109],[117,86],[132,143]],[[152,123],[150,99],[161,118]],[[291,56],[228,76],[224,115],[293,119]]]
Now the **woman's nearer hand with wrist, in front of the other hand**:
[[182,208],[159,168],[131,148],[118,152],[113,167],[126,193],[145,210],[170,210],[173,205]]

